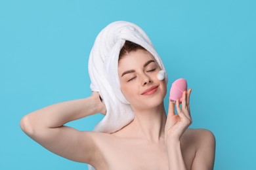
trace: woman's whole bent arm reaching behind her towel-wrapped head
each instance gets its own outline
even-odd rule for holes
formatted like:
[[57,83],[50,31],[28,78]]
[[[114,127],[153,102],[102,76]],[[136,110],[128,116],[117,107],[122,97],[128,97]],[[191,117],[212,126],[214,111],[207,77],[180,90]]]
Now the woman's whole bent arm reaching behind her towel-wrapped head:
[[91,97],[56,103],[27,114],[20,121],[22,130],[51,152],[69,160],[93,164],[95,133],[63,126],[96,113],[106,114],[98,93]]

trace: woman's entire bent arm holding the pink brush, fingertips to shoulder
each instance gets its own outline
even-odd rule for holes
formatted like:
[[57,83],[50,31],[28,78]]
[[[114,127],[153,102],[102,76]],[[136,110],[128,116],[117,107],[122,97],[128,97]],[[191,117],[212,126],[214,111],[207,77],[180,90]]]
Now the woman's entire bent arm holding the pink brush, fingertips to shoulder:
[[196,153],[191,167],[186,167],[182,156],[181,137],[192,123],[189,104],[191,91],[190,89],[188,92],[183,92],[181,108],[178,104],[179,101],[176,101],[178,114],[175,114],[175,105],[173,103],[169,104],[169,112],[165,125],[165,143],[167,144],[169,169],[212,170],[215,160],[215,137],[211,131],[205,129],[194,131],[192,139],[196,141]]

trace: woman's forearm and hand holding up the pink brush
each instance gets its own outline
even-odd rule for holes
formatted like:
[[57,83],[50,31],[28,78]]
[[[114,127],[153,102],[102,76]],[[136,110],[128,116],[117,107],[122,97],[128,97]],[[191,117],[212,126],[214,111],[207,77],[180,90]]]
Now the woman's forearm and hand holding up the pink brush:
[[167,145],[167,153],[169,160],[169,170],[188,170],[181,152],[181,137],[192,123],[189,108],[189,97],[191,89],[188,93],[185,91],[182,95],[182,107],[179,107],[179,101],[175,104],[169,103],[169,111],[165,124],[165,144]]

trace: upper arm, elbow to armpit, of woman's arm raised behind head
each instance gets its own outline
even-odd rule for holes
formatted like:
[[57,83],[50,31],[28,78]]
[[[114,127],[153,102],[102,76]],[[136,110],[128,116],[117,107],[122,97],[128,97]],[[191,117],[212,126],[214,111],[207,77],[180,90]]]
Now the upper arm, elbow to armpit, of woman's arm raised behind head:
[[21,124],[22,130],[54,154],[84,163],[92,164],[95,161],[96,133],[78,131],[68,126],[32,128],[29,124],[29,122]]

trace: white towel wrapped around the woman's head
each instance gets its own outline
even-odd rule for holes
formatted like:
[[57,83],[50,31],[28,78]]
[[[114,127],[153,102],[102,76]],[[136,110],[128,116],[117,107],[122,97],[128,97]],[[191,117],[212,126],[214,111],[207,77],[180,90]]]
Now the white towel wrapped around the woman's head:
[[[90,88],[100,93],[106,105],[106,116],[96,124],[93,131],[113,133],[134,118],[133,110],[121,92],[118,76],[119,52],[125,41],[135,42],[144,47],[165,71],[152,42],[138,25],[117,21],[102,29],[91,50],[88,69],[91,78]],[[165,81],[167,82],[166,74]]]

